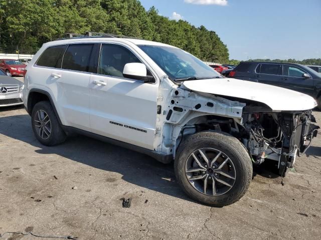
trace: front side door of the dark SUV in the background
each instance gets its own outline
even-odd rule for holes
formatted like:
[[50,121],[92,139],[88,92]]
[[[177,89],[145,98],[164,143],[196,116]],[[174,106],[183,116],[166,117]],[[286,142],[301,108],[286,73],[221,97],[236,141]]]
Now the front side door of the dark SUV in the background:
[[[280,86],[313,95],[313,79],[307,71],[298,66],[287,64],[283,64],[282,68]],[[309,74],[310,78],[302,77],[303,73]]]

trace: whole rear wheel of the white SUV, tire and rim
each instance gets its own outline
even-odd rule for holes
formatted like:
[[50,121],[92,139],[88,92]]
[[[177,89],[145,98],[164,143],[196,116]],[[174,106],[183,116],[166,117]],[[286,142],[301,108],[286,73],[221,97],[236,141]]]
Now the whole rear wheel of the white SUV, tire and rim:
[[31,123],[36,138],[44,145],[58,145],[66,139],[66,134],[49,101],[36,103],[31,113]]

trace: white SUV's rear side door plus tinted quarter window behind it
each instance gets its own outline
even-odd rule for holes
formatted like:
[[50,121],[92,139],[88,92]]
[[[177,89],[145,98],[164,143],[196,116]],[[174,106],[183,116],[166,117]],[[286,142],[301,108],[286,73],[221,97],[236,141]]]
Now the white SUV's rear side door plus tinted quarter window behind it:
[[90,130],[89,79],[92,43],[47,48],[36,63],[37,76],[46,86],[63,124]]

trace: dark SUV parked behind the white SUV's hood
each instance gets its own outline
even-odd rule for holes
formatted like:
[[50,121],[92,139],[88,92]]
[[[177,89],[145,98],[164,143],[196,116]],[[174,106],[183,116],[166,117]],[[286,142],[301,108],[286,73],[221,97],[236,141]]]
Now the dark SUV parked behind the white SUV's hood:
[[321,109],[321,73],[308,66],[285,62],[244,61],[230,72],[229,77],[303,92],[314,97]]

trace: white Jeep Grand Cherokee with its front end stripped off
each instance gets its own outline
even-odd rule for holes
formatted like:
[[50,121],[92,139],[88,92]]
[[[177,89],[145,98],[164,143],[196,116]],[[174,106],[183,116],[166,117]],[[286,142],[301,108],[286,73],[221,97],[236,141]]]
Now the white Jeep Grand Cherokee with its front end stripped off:
[[283,176],[317,132],[312,97],[225,78],[158,42],[56,40],[26,69],[24,102],[41,143],[56,145],[77,132],[162,162],[175,159],[186,193],[214,206],[240,199],[252,165],[264,159],[276,161]]

